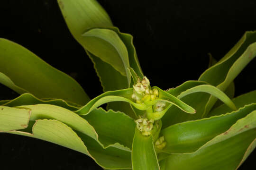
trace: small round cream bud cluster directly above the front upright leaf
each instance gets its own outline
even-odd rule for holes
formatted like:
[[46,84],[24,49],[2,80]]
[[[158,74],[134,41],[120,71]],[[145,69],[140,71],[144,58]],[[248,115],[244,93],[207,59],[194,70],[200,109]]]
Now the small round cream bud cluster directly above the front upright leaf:
[[154,120],[148,120],[147,118],[140,118],[135,120],[137,129],[144,136],[149,136],[152,133],[152,129],[154,127]]

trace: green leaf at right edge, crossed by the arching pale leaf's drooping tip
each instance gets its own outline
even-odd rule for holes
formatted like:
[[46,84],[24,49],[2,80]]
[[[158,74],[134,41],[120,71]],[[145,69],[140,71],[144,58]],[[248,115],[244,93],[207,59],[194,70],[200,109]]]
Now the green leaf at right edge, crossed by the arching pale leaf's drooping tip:
[[[256,103],[256,90],[249,93],[242,94],[234,98],[232,102],[234,102],[238,108],[244,107],[247,104]],[[223,104],[217,107],[216,109],[210,111],[207,117],[221,115],[231,111],[232,110],[229,107],[227,107],[227,105]]]

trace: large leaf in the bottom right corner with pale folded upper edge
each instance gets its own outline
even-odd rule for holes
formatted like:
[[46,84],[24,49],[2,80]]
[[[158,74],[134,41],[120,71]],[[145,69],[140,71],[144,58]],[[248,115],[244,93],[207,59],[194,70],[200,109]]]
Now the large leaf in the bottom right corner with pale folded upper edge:
[[[194,153],[171,154],[165,170],[234,170],[256,138],[256,110]],[[202,161],[203,160],[203,161]]]

